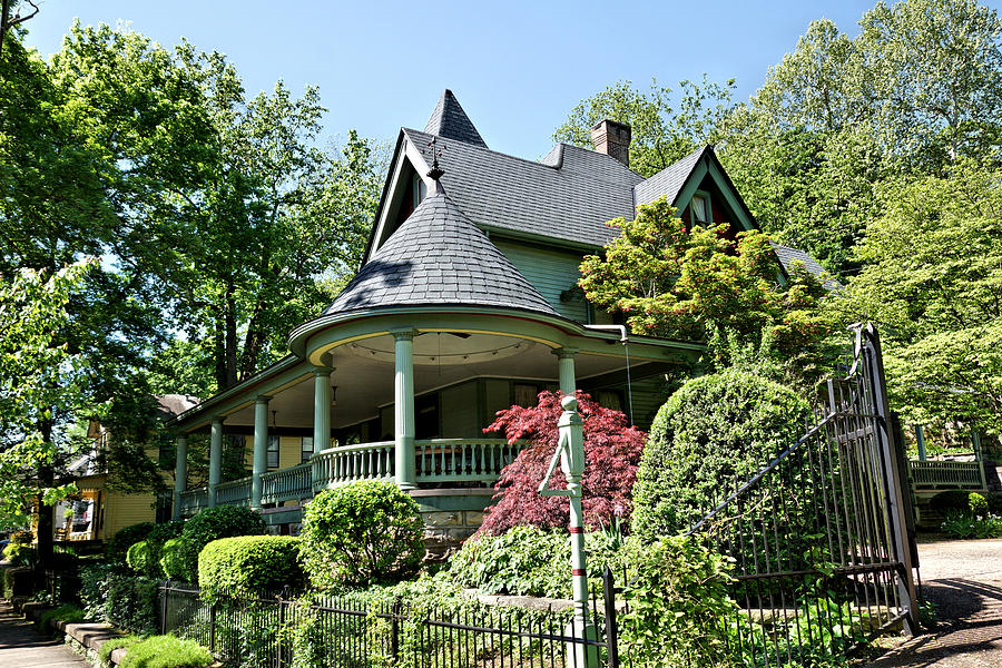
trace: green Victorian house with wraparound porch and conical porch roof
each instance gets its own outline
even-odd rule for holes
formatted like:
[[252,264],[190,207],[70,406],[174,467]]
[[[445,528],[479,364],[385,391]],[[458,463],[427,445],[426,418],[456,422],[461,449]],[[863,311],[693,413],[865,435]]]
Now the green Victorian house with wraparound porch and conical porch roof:
[[[645,179],[627,167],[628,126],[592,135],[595,150],[560,144],[539,161],[495,153],[449,90],[424,131],[401,129],[357,275],[292,331],[285,358],[174,422],[175,517],[243,504],[295,532],[320,490],[382,479],[456,540],[519,450],[482,432],[497,411],[580,389],[649,426],[665,373],[701,346],[627,336],[584,301],[581,258],[610,240],[607,220],[662,195],[695,222],[755,223],[710,147]],[[206,432],[209,483],[187,489],[187,442]],[[224,481],[237,435],[253,474]]]

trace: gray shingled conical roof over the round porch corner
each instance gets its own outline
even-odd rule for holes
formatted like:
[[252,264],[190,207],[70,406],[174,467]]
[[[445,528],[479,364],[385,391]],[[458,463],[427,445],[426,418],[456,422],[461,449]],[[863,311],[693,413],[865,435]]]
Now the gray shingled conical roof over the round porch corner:
[[418,304],[558,315],[441,186],[418,205],[323,315]]

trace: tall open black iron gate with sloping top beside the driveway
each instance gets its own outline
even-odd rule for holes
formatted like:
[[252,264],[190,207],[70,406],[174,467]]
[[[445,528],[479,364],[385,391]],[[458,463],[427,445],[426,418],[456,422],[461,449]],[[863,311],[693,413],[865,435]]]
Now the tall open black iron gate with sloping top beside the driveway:
[[731,650],[749,666],[814,665],[915,629],[911,500],[875,330],[859,331],[852,370],[822,399],[755,475],[721,481],[689,531],[736,560]]

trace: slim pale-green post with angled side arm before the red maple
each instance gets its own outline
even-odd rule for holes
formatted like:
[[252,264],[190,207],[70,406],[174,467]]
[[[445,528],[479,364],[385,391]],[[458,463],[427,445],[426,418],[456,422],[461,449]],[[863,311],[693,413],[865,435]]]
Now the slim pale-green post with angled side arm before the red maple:
[[[578,400],[573,396],[564,396],[560,401],[563,413],[557,422],[560,438],[557,442],[557,451],[550,460],[547,475],[539,484],[539,493],[542,497],[567,497],[570,501],[570,532],[571,541],[571,589],[573,591],[574,615],[571,620],[570,631],[572,637],[581,640],[595,639],[595,629],[589,628],[588,621],[588,568],[584,561],[584,517],[581,511],[581,477],[584,474],[584,433],[583,421],[578,414]],[[560,464],[560,470],[567,479],[566,490],[549,489],[550,477]],[[596,647],[574,644],[571,648],[568,666],[572,668],[590,668],[598,665]]]

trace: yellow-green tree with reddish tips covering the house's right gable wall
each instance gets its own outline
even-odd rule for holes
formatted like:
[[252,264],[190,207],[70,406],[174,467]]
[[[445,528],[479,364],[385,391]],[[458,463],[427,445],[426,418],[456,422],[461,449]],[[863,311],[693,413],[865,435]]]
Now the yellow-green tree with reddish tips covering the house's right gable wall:
[[826,291],[803,266],[784,279],[764,234],[735,238],[726,224],[689,228],[664,197],[609,225],[620,234],[603,255],[584,258],[579,285],[635,333],[709,340],[724,356],[734,344],[763,342],[788,362],[818,354],[832,327],[821,308]]

